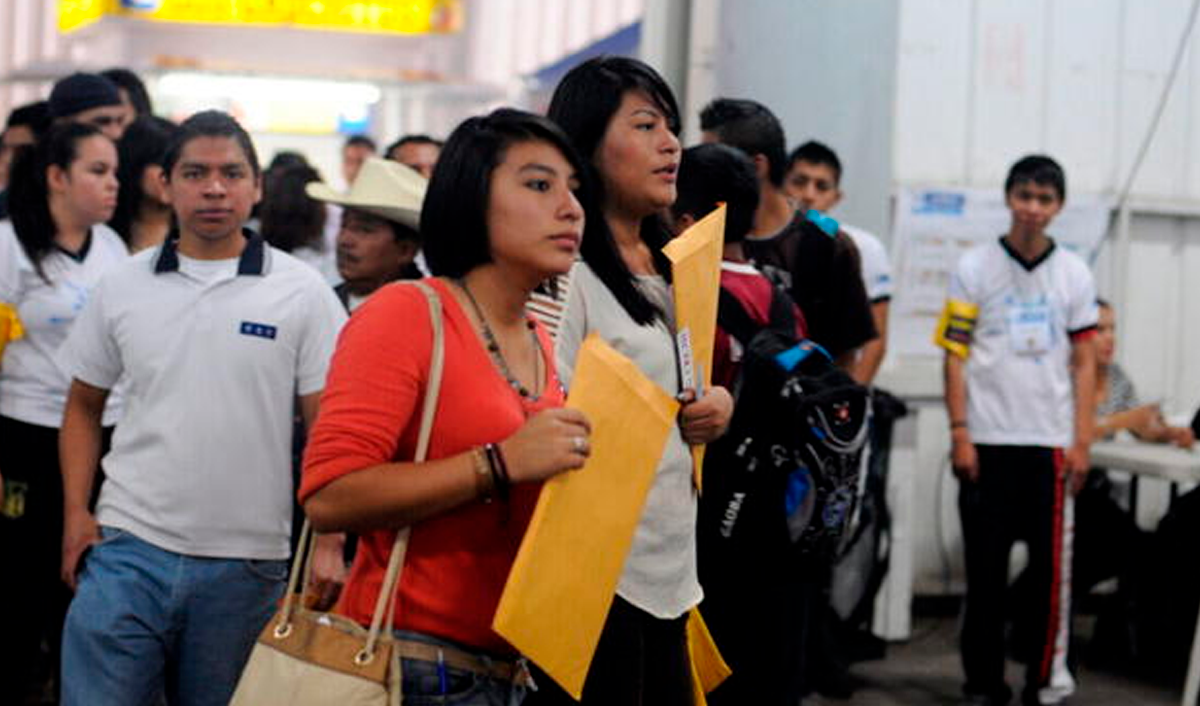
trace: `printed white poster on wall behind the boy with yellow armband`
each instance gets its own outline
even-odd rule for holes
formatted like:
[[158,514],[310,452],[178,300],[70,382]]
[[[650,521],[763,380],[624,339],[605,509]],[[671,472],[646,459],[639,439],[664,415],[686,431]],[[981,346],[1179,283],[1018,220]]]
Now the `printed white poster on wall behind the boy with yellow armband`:
[[[1091,263],[1109,226],[1110,211],[1108,197],[1070,195],[1050,223],[1050,235]],[[932,342],[934,329],[959,257],[1007,233],[1009,220],[998,189],[900,190],[892,221],[895,295],[888,327],[889,354],[941,355]]]

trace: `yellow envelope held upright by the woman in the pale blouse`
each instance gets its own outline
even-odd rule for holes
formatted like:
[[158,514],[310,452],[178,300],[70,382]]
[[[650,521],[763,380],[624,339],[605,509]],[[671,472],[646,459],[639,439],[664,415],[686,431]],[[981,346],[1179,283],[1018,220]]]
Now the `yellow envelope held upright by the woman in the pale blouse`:
[[[697,221],[662,249],[671,261],[676,330],[683,387],[708,389],[713,379],[716,301],[725,252],[725,204]],[[704,447],[692,447],[696,489],[701,489]]]

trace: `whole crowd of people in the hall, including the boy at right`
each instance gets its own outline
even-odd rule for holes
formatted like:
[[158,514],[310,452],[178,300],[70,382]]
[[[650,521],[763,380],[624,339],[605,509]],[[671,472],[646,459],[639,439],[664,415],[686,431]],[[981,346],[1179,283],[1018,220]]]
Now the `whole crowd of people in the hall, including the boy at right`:
[[[228,114],[156,116],[125,70],[70,76],[13,110],[0,146],[0,700],[223,706],[283,594],[302,511],[319,532],[307,590],[361,624],[410,532],[390,627],[414,704],[572,702],[492,618],[541,484],[593,450],[589,419],[565,403],[599,335],[680,413],[582,702],[694,704],[688,616],[706,609],[715,560],[697,548],[691,449],[728,427],[745,349],[719,329],[713,384],[684,377],[664,247],[725,204],[721,288],[755,327],[782,307],[787,335],[868,388],[892,277],[878,238],[828,216],[842,198],[834,150],[788,152],[751,100],[712,101],[688,149],[682,119],[653,67],[592,59],[545,116],[502,108],[383,156],[352,137],[338,190],[296,152],[260,167]],[[1139,407],[1112,361],[1111,309],[1049,235],[1066,193],[1054,160],[1013,166],[1010,228],[959,263],[936,331],[973,704],[1013,695],[1014,540],[1030,545],[1024,702],[1073,690],[1063,517],[1090,441],[1194,441]],[[445,373],[416,460],[436,329]],[[833,560],[772,558],[790,567],[776,593],[791,608],[761,641],[714,623],[732,676],[712,704],[847,695]]]

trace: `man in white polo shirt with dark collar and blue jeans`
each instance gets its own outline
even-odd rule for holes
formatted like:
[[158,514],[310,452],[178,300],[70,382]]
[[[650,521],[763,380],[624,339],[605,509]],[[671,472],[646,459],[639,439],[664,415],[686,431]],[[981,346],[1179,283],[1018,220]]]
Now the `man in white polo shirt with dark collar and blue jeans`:
[[228,702],[287,574],[293,401],[316,415],[346,318],[314,270],[242,231],[262,183],[233,118],[186,120],[163,170],[178,233],[97,286],[61,352],[65,706]]

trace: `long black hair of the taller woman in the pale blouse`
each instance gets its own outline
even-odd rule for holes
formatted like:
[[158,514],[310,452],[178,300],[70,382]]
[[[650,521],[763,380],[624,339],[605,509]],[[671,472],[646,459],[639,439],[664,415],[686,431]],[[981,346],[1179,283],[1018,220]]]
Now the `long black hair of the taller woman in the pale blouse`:
[[[604,186],[595,167],[596,149],[629,91],[644,92],[662,110],[671,131],[679,134],[679,107],[671,86],[647,64],[625,56],[596,56],[568,72],[554,89],[547,115],[570,136],[575,149],[588,161],[587,175],[594,193],[583,203],[587,225],[580,255],[630,318],[647,325],[662,312],[637,288],[629,265],[617,250],[604,217]],[[670,279],[671,263],[662,246],[671,234],[658,215],[642,221],[641,238],[654,257],[655,268]]]

